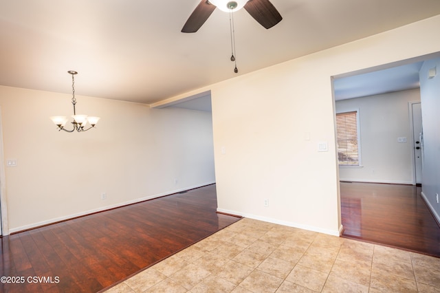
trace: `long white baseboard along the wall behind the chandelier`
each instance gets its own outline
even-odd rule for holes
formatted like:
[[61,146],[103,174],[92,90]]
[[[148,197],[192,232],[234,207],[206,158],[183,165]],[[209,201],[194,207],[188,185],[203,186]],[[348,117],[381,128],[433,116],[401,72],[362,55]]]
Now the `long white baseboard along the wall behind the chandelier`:
[[195,188],[199,188],[199,187],[202,187],[202,186],[207,186],[207,185],[214,184],[214,183],[215,182],[206,182],[206,183],[203,183],[203,184],[197,184],[195,186],[188,186],[188,187],[185,187],[185,188],[179,188],[179,189],[175,189],[175,190],[172,190],[172,191],[167,191],[165,193],[158,193],[158,194],[155,194],[155,195],[148,195],[146,197],[140,197],[140,198],[137,198],[137,199],[132,199],[132,200],[129,200],[129,201],[126,201],[126,202],[121,202],[119,204],[112,204],[112,205],[109,205],[109,206],[102,206],[100,208],[94,208],[94,209],[91,209],[91,210],[86,210],[86,211],[81,212],[81,213],[76,213],[76,214],[67,215],[67,216],[63,216],[63,217],[57,217],[57,218],[48,219],[48,220],[45,220],[45,221],[39,221],[38,223],[29,224],[29,225],[25,225],[25,226],[20,226],[20,227],[17,227],[17,228],[10,228],[8,230],[8,234],[14,234],[14,233],[18,233],[18,232],[23,232],[25,230],[32,230],[32,229],[39,228],[39,227],[42,227],[42,226],[47,226],[47,225],[50,225],[50,224],[56,224],[56,223],[59,223],[61,221],[67,221],[69,219],[75,219],[75,218],[78,218],[78,217],[85,217],[87,215],[92,215],[92,214],[104,212],[105,210],[113,210],[113,208],[121,208],[122,206],[129,206],[130,204],[137,204],[139,202],[145,202],[146,200],[151,200],[151,199],[155,199],[157,197],[163,197],[163,196],[166,196],[166,195],[173,195],[173,194],[179,193],[181,191],[188,191],[190,189],[195,189]]

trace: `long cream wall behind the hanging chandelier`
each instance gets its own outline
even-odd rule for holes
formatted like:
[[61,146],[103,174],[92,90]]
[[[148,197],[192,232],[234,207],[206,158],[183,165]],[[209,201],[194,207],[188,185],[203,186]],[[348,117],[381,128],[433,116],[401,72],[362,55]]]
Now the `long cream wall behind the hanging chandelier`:
[[10,232],[215,181],[211,113],[76,96],[97,129],[58,132],[71,98],[0,87]]

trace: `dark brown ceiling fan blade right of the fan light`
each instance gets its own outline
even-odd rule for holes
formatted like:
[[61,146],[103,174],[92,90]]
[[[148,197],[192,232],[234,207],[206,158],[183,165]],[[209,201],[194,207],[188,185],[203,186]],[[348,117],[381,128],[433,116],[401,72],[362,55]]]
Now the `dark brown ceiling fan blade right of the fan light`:
[[280,12],[269,0],[249,0],[244,8],[251,17],[267,29],[272,28],[283,19]]

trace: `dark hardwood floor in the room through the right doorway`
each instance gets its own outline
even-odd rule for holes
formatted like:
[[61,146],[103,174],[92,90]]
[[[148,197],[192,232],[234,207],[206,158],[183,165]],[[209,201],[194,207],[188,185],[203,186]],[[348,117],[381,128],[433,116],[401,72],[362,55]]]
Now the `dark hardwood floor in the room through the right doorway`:
[[340,182],[342,237],[440,257],[440,228],[421,187]]

